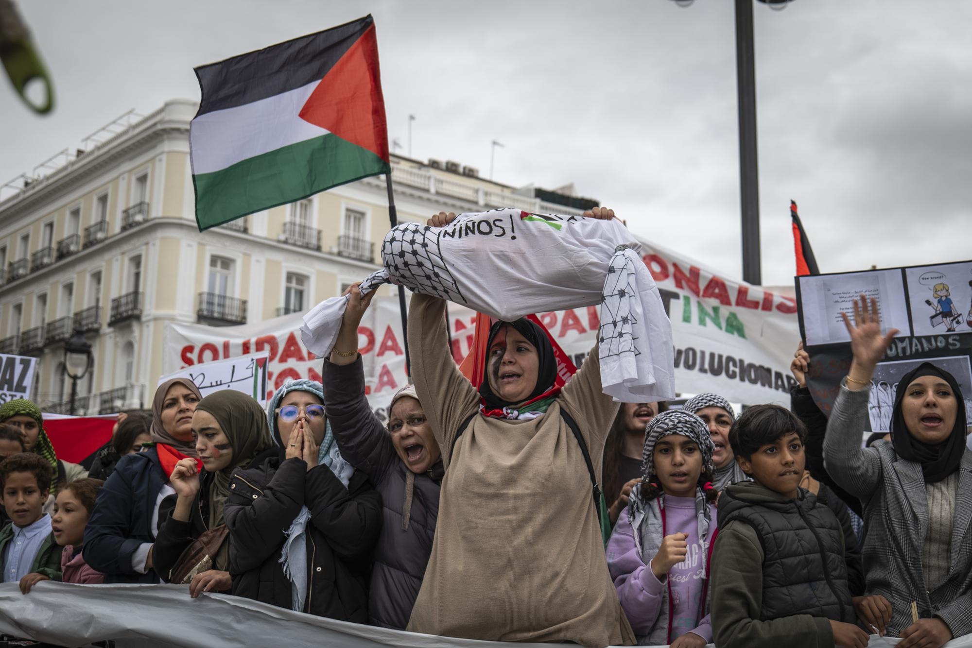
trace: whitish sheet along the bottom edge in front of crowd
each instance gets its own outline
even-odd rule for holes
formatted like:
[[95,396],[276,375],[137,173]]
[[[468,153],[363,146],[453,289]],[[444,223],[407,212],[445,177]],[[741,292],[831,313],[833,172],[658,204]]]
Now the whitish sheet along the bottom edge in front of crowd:
[[[185,585],[50,581],[38,583],[26,596],[17,583],[0,583],[0,632],[63,646],[114,639],[118,648],[550,648],[549,643],[509,644],[373,628],[249,598],[204,594],[192,599]],[[884,648],[898,641],[872,635],[868,645]],[[972,635],[953,639],[945,648],[972,648]]]

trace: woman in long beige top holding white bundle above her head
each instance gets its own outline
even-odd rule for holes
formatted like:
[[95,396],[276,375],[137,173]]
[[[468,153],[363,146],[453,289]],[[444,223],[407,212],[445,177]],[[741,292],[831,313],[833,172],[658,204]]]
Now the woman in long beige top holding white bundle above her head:
[[[587,216],[609,219],[613,212]],[[453,218],[439,214],[429,224]],[[497,322],[477,392],[449,351],[444,310],[437,297],[412,295],[412,378],[448,468],[408,630],[633,644],[608,574],[587,463],[562,414],[600,469],[618,404],[602,390],[597,345],[561,389],[542,330],[525,318]]]

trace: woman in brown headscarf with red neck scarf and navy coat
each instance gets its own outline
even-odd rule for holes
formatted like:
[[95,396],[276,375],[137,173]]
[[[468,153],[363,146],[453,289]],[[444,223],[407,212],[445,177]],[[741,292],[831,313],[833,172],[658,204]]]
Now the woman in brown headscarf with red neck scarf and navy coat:
[[169,475],[195,457],[192,414],[202,399],[188,378],[168,380],[152,401],[153,445],[122,457],[98,491],[85,528],[85,561],[105,583],[157,583],[153,543],[174,505]]

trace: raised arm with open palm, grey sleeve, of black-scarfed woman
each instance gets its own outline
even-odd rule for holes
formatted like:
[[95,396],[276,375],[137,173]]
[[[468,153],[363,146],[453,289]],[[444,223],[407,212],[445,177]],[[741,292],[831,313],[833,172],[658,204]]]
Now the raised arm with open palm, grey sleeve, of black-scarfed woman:
[[854,302],[853,313],[853,324],[847,314],[842,313],[851,334],[853,360],[827,422],[823,460],[834,481],[851,495],[866,500],[878,488],[882,478],[878,451],[861,448],[861,436],[868,417],[867,398],[874,369],[898,331],[892,328],[886,335],[881,333],[877,299],[871,299],[869,304],[867,298],[860,295],[859,301]]

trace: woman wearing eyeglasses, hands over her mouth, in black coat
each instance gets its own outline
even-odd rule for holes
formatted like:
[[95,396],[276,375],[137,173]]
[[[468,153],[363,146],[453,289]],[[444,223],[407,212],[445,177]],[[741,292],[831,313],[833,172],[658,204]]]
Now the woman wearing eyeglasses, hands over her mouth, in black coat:
[[324,387],[288,381],[266,406],[280,448],[229,483],[232,593],[339,621],[367,623],[367,574],[381,496],[337,450]]

